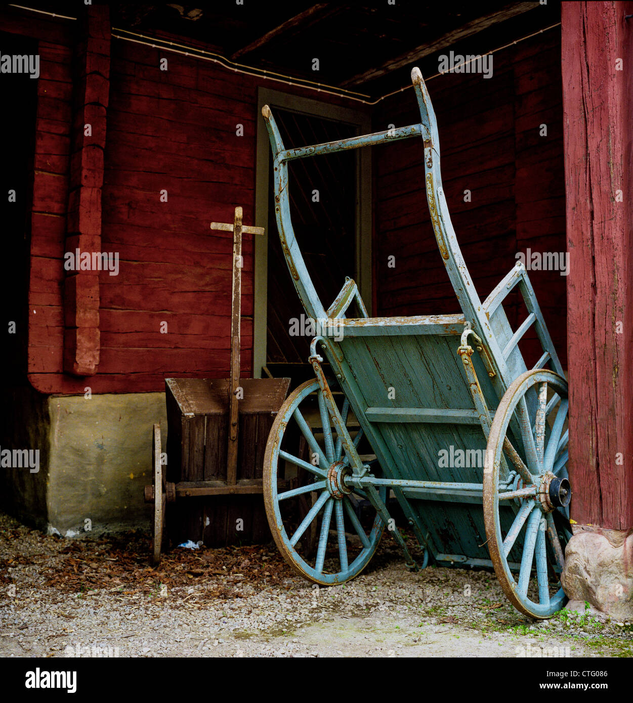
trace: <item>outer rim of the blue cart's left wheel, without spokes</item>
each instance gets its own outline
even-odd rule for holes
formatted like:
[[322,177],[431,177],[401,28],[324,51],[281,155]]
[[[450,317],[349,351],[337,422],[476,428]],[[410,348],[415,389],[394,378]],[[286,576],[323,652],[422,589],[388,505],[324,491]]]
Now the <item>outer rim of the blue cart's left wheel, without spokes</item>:
[[[264,455],[264,504],[266,506],[266,516],[270,526],[270,530],[277,548],[288,565],[298,574],[305,578],[319,583],[322,586],[332,586],[336,583],[345,583],[357,576],[366,567],[376,551],[378,542],[383,534],[384,525],[380,517],[376,515],[373,522],[373,527],[370,534],[367,536],[369,546],[364,547],[354,561],[348,566],[347,571],[340,571],[335,574],[324,574],[317,572],[314,567],[309,565],[295,548],[290,545],[290,538],[286,533],[286,528],[283,524],[281,511],[279,510],[279,500],[277,492],[277,466],[279,460],[279,446],[283,439],[283,434],[286,432],[288,422],[293,418],[293,412],[301,401],[310,393],[319,389],[317,380],[309,380],[300,385],[293,393],[288,396],[283,406],[279,410],[277,417],[274,420],[271,432],[269,434],[266,453]],[[327,490],[327,489],[324,489]],[[321,491],[322,492],[322,491]],[[385,491],[381,492],[381,498],[384,499]],[[316,520],[318,514],[314,516]]]

